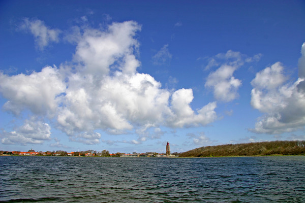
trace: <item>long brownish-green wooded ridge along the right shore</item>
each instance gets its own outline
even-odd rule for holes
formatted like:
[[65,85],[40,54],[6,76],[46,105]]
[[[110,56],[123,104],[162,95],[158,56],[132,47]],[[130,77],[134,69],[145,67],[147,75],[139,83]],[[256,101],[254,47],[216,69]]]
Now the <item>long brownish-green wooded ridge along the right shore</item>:
[[305,155],[305,141],[272,141],[200,147],[179,157]]

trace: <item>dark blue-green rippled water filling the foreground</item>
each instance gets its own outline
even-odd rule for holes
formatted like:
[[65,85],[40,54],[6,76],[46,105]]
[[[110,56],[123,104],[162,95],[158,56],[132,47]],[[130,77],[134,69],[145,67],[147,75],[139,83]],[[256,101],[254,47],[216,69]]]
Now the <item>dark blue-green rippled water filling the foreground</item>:
[[0,156],[0,202],[305,202],[305,157]]

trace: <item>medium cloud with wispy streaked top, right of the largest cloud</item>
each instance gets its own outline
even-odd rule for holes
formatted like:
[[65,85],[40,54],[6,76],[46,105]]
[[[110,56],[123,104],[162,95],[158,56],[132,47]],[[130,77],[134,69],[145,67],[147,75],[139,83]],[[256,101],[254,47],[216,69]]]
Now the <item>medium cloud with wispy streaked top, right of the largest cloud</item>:
[[258,61],[260,57],[261,54],[248,57],[240,52],[229,50],[209,58],[206,70],[214,66],[220,65],[220,67],[208,75],[205,87],[212,88],[214,96],[218,100],[228,102],[237,98],[237,91],[242,82],[233,76],[234,72],[246,62]]

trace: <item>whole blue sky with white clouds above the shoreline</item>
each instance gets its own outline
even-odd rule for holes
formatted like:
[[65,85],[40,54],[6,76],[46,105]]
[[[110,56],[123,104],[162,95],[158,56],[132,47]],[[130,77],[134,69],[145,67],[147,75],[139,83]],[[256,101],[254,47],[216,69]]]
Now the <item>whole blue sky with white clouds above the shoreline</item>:
[[304,1],[1,1],[0,150],[305,140]]

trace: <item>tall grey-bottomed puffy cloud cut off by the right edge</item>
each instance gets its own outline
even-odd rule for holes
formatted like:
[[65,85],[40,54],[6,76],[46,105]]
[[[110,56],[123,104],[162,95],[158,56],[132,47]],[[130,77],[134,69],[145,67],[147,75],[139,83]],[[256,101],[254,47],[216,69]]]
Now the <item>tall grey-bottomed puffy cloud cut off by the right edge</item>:
[[[304,49],[302,46],[301,59],[305,54]],[[299,60],[300,68],[302,60]],[[283,65],[277,62],[257,73],[251,82],[254,87],[251,91],[251,105],[264,113],[251,131],[280,134],[304,128],[305,92],[300,85],[305,78],[299,77],[294,83],[285,83],[283,70]]]

